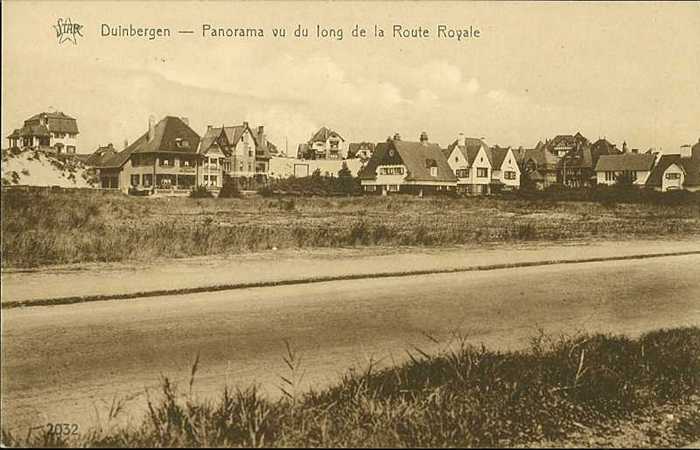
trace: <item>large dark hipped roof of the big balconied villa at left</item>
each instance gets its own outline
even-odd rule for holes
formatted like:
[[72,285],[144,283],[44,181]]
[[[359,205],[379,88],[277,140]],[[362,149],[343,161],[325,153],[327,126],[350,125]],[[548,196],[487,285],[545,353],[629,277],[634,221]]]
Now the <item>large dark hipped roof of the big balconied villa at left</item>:
[[[178,139],[188,145],[178,146]],[[121,167],[137,153],[197,153],[199,140],[199,135],[179,117],[166,116],[154,126],[153,139],[148,139],[146,131],[127,148],[102,161],[99,167]]]

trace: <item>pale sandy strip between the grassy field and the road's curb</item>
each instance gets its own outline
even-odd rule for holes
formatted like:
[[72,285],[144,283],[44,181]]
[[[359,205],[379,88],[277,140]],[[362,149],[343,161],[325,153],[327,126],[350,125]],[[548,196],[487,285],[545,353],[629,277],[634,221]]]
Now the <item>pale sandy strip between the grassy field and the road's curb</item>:
[[2,302],[115,295],[222,284],[299,280],[482,265],[700,251],[700,241],[529,243],[478,248],[286,250],[248,255],[4,270]]

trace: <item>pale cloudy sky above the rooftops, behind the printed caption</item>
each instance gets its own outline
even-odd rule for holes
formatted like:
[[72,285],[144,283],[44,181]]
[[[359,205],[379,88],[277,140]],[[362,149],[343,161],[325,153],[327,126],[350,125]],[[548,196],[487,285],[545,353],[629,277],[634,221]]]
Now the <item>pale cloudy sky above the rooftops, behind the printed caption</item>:
[[[59,43],[59,18],[83,26],[76,44]],[[172,35],[101,37],[103,23]],[[203,37],[203,24],[265,36]],[[342,28],[343,39],[316,38],[317,24]],[[356,24],[370,36],[352,38]],[[437,38],[439,24],[480,37]],[[696,2],[10,1],[2,25],[3,139],[55,109],[78,120],[80,153],[122,148],[150,115],[187,117],[199,134],[264,125],[290,153],[321,126],[349,142],[426,131],[443,147],[460,132],[527,148],[580,131],[665,152],[700,138]],[[293,37],[298,25],[309,38]],[[395,38],[393,25],[432,36]],[[273,27],[288,36],[273,38]]]

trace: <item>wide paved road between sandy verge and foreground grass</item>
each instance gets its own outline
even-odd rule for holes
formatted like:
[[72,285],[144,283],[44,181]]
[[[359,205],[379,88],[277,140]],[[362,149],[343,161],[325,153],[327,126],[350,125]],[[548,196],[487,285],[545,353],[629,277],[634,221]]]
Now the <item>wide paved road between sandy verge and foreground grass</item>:
[[3,423],[88,428],[113,397],[132,394],[138,416],[161,374],[186,388],[198,352],[197,395],[253,382],[274,395],[285,340],[302,354],[307,388],[370,358],[389,365],[414,345],[434,349],[424,333],[507,349],[538,328],[698,325],[699,266],[688,255],[4,310]]

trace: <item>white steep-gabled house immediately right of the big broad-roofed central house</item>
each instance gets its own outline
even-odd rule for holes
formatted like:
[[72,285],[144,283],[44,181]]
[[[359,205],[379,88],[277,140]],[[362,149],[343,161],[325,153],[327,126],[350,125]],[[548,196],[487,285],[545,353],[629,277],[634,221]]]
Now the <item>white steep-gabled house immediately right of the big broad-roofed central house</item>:
[[[488,194],[491,192],[492,165],[490,150],[481,139],[459,134],[445,154],[447,163],[457,177],[457,192]],[[513,163],[516,163],[513,158]]]

